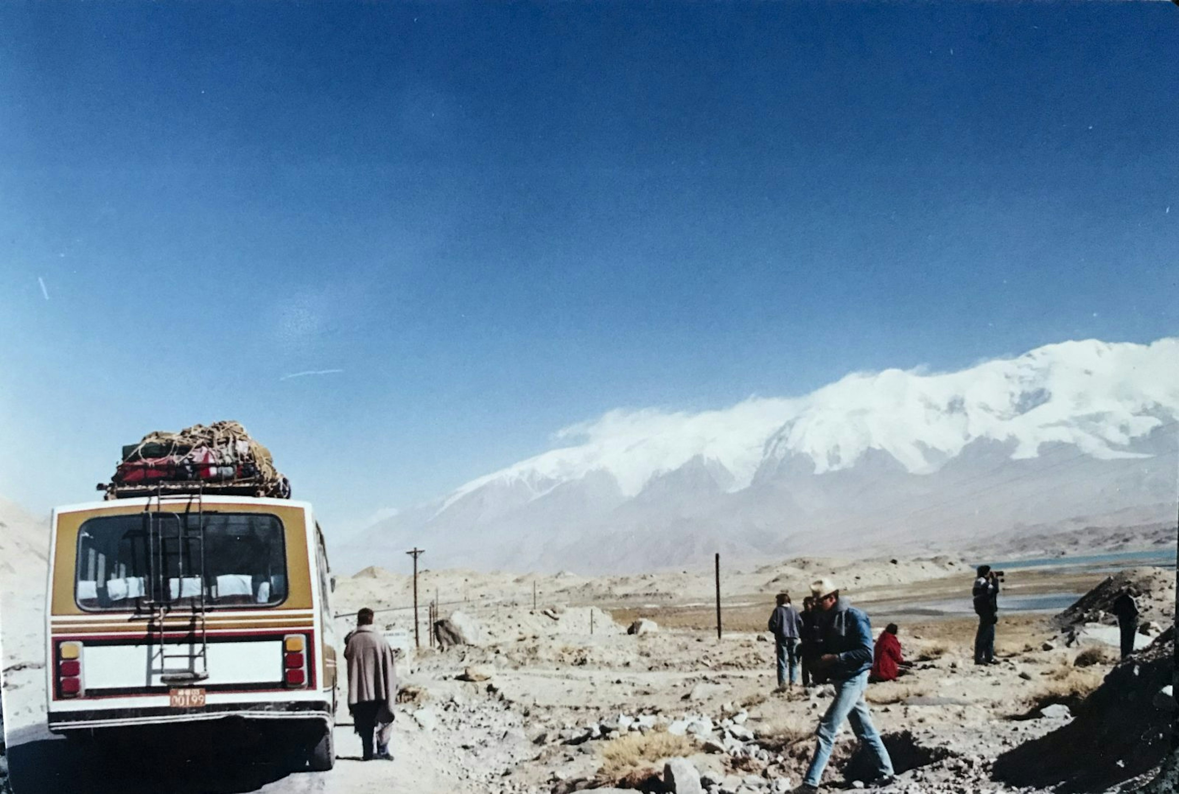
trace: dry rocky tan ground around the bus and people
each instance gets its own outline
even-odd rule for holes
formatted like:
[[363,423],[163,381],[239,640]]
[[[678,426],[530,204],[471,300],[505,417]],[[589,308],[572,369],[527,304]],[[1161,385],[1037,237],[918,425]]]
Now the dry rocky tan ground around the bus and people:
[[[1095,596],[1093,605],[1060,618],[1005,613],[1000,663],[977,668],[970,658],[974,619],[968,615],[933,617],[916,610],[896,617],[904,615],[898,601],[916,604],[968,590],[968,566],[951,558],[789,560],[726,573],[719,639],[711,624],[714,584],[707,571],[600,578],[428,572],[420,582],[422,601],[433,599],[436,589],[441,615],[473,643],[446,650],[413,649],[411,611],[403,609],[410,597],[408,577],[370,570],[340,579],[338,624],[345,629],[348,615],[361,605],[382,610],[378,624],[403,649],[395,761],[361,762],[360,742],[342,713],[340,760],[330,773],[288,774],[268,762],[265,752],[249,763],[239,759],[237,766],[226,766],[222,755],[212,766],[167,768],[169,790],[789,790],[805,769],[831,691],[775,694],[773,648],[759,630],[773,592],[798,593],[819,575],[849,583],[845,591],[874,616],[876,631],[881,616],[897,621],[904,652],[915,662],[911,675],[869,689],[898,772],[881,790],[1030,793],[1061,783],[1074,787],[1069,790],[1105,790],[1140,779],[1158,762],[1162,744],[1154,741],[1127,766],[1107,759],[1089,765],[1092,774],[1068,772],[1084,766],[1071,759],[1079,747],[1088,760],[1104,757],[1102,749],[1121,752],[1112,736],[1126,728],[1111,709],[1126,700],[1126,691],[1135,693],[1132,714],[1148,723],[1144,730],[1157,733],[1158,720],[1166,720],[1155,702],[1170,651],[1165,642],[1148,645],[1159,635],[1157,624],[1173,617],[1172,571],[1128,575],[1148,593],[1146,617],[1159,618],[1144,625],[1137,664],[1115,664],[1111,618]],[[1080,578],[1068,582],[1082,593],[1111,586],[1102,584],[1105,575],[1075,576]],[[1021,573],[1020,580],[1028,592],[1061,586],[1050,571]],[[35,598],[28,596],[15,623],[7,619],[13,615],[8,603],[4,694],[7,759],[14,780],[24,783],[17,790],[59,790],[62,775],[75,788],[160,790],[157,768],[129,772],[44,735],[39,638],[24,639],[39,631],[39,616],[32,615]],[[424,606],[421,613],[424,618]],[[639,616],[648,624],[627,634]],[[428,634],[421,628],[424,644]],[[1147,708],[1150,718],[1142,717]],[[1106,722],[1112,733],[1096,728]],[[1142,743],[1142,736],[1135,741]],[[855,748],[845,728],[825,777],[830,787],[864,781]],[[1041,768],[1056,772],[1034,772]]]

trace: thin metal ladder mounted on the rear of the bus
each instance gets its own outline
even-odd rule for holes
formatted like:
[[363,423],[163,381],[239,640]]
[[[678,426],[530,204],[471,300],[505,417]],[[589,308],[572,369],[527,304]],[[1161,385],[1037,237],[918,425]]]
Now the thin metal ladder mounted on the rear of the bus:
[[[182,512],[163,510],[164,494],[158,492],[144,507],[147,534],[149,592],[144,606],[151,618],[151,676],[159,676],[164,684],[196,683],[209,677],[209,610],[205,591],[205,521],[200,494],[196,494],[196,521],[192,527],[193,497]],[[154,510],[152,506],[154,505]],[[195,549],[193,549],[195,546]],[[172,577],[171,573],[176,576]],[[176,579],[176,595],[172,579]],[[196,579],[196,593],[185,595]],[[187,624],[170,625],[167,618],[187,605]],[[169,642],[169,632],[184,631],[186,638]]]

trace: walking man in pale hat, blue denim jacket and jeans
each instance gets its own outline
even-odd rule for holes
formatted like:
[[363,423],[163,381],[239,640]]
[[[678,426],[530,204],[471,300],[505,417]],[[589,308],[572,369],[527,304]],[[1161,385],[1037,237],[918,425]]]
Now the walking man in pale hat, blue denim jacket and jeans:
[[831,757],[835,734],[847,720],[851,730],[876,756],[876,777],[868,781],[874,786],[893,782],[893,760],[872,724],[864,690],[868,672],[872,667],[872,626],[868,616],[839,596],[839,589],[831,579],[818,579],[811,584],[815,609],[818,611],[818,634],[823,643],[823,655],[816,661],[835,685],[835,697],[819,720],[815,755],[796,793],[817,792],[823,769]]

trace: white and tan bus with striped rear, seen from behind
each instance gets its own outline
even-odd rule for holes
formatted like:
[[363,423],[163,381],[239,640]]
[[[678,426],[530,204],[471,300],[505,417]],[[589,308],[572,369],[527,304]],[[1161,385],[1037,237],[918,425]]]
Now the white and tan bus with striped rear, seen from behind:
[[311,505],[205,493],[52,514],[48,729],[158,740],[245,728],[335,763],[335,579]]

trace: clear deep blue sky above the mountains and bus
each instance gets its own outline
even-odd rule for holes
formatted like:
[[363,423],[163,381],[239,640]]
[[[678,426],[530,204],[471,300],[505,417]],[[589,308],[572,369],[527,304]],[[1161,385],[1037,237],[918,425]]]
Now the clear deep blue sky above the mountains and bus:
[[1174,334],[1177,13],[5,4],[0,494],[232,418],[348,527],[620,406]]

